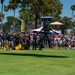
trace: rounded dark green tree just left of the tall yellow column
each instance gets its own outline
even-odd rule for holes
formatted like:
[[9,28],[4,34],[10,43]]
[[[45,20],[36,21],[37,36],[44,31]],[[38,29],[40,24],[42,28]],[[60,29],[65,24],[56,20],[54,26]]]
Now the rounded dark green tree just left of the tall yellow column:
[[[15,26],[14,26],[14,30],[13,30],[13,20],[15,20]],[[14,18],[13,16],[8,16],[7,17],[7,22],[5,22],[4,26],[3,26],[3,30],[4,32],[20,32],[20,24],[21,21],[17,18]]]

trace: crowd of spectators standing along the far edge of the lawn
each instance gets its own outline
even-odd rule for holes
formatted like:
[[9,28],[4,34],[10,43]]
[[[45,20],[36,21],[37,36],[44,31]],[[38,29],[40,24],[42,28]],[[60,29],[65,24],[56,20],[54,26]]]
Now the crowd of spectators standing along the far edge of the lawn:
[[[36,50],[41,48],[48,48],[48,40],[45,37],[41,44],[39,41],[41,33],[0,33],[0,49],[4,50]],[[75,48],[75,35],[52,35],[50,34],[49,48]]]

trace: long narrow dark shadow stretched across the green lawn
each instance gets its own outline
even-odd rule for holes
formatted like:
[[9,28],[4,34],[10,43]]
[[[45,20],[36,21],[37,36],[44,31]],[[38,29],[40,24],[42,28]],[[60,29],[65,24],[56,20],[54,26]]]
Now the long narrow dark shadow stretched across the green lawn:
[[68,56],[58,55],[43,55],[43,54],[25,54],[25,53],[0,53],[0,55],[14,55],[14,56],[32,56],[32,57],[48,57],[48,58],[68,58]]

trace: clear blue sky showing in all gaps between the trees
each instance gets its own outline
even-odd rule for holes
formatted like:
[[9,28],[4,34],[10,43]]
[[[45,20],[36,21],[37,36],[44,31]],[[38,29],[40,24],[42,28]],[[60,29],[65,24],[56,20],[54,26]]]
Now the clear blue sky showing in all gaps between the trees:
[[[8,1],[9,0],[5,0],[4,5],[7,5]],[[60,1],[61,1],[61,3],[63,3],[63,9],[62,9],[61,17],[67,16],[67,17],[72,18],[71,6],[75,5],[75,0],[60,0]],[[1,11],[1,4],[0,4],[0,11]],[[8,12],[3,12],[3,13],[5,14],[4,22],[6,21],[6,16],[13,16],[12,10],[10,10]],[[74,11],[74,15],[75,15],[75,11]],[[15,17],[17,17],[17,18],[19,17],[18,11],[16,12]]]

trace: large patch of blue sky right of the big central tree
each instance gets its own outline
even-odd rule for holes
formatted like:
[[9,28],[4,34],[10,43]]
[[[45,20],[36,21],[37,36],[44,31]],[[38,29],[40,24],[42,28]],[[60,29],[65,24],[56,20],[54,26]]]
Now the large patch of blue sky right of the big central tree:
[[[63,3],[63,9],[62,9],[62,14],[61,16],[68,16],[72,17],[72,10],[71,6],[74,4],[75,5],[75,0],[60,0]],[[75,12],[74,12],[75,15]]]

